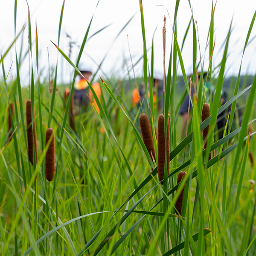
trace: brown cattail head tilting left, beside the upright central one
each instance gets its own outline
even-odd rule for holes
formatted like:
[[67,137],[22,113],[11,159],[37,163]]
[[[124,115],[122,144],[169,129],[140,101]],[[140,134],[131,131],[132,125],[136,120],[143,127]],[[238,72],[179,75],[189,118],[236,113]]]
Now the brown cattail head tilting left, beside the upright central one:
[[148,153],[154,162],[156,160],[155,152],[154,152],[154,141],[151,133],[150,124],[148,121],[148,116],[146,114],[141,114],[140,118],[140,131],[142,134],[143,142],[148,150]]

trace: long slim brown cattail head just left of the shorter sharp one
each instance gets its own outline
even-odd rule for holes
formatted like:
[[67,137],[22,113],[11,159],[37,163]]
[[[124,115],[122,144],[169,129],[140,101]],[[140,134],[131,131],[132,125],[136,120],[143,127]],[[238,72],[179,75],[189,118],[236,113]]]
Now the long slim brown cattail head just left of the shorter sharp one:
[[[27,123],[27,127],[29,127],[29,125],[32,123],[31,100],[30,99],[28,99],[26,101],[26,123]],[[38,161],[38,151],[37,151],[36,127],[35,127],[35,108],[34,108],[33,129],[32,129],[32,125],[30,125],[30,127],[27,129],[29,161],[32,164],[33,164],[33,130],[34,130],[35,159],[36,159],[36,163],[37,163],[37,161]]]

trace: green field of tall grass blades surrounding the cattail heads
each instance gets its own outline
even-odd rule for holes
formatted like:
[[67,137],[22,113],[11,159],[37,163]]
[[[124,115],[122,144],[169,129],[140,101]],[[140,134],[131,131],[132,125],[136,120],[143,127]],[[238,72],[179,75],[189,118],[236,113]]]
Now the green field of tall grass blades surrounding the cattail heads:
[[[140,5],[139,5],[140,3]],[[178,9],[179,1],[176,7]],[[228,56],[230,30],[224,42],[224,52],[218,67],[212,66],[214,58],[214,8],[209,24],[208,47],[209,65],[197,58],[196,23],[192,19],[188,29],[193,30],[193,79],[197,69],[207,70],[207,78],[215,86],[210,91],[210,117],[201,122],[203,104],[206,100],[205,85],[200,79],[192,97],[191,122],[187,135],[181,134],[179,108],[189,93],[190,83],[183,66],[181,46],[176,34],[176,15],[173,24],[172,52],[170,63],[165,67],[163,80],[163,108],[154,108],[154,86],[151,76],[154,61],[149,63],[153,45],[145,41],[142,1],[138,1],[141,13],[141,30],[144,51],[141,79],[145,87],[143,113],[150,120],[150,134],[153,135],[155,158],[152,160],[141,134],[139,118],[142,108],[134,108],[131,102],[132,90],[136,88],[133,72],[127,81],[115,81],[107,76],[99,79],[102,94],[97,97],[91,84],[94,101],[86,111],[78,114],[75,106],[75,130],[70,126],[70,105],[79,61],[90,30],[88,24],[76,63],[72,63],[58,46],[62,55],[73,67],[73,83],[57,84],[58,72],[49,89],[47,82],[35,79],[38,74],[38,37],[36,51],[32,52],[30,17],[24,29],[29,30],[30,49],[27,54],[36,57],[32,63],[30,83],[20,84],[20,52],[16,52],[17,76],[6,83],[9,67],[5,58],[13,44],[2,53],[0,63],[3,77],[0,87],[0,255],[255,255],[256,252],[256,156],[254,99],[256,80],[250,86],[239,87],[240,71],[232,80],[229,101],[220,104],[221,90]],[[176,9],[176,10],[177,10]],[[59,34],[63,17],[61,9]],[[15,17],[17,0],[15,1]],[[250,39],[255,15],[248,24],[244,51]],[[93,17],[92,17],[93,20]],[[15,24],[16,30],[16,24]],[[20,32],[16,31],[16,37]],[[184,40],[186,39],[186,34]],[[163,46],[165,45],[163,27]],[[148,43],[148,42],[147,42]],[[165,47],[163,47],[165,52]],[[152,55],[151,55],[152,56]],[[31,58],[33,59],[33,58]],[[151,58],[152,59],[152,58]],[[166,60],[167,61],[167,60]],[[177,67],[180,66],[186,89],[180,93],[177,88]],[[56,69],[57,70],[57,67]],[[216,72],[217,70],[217,72]],[[214,72],[213,72],[214,71]],[[216,75],[217,74],[217,75]],[[44,79],[47,81],[47,79]],[[137,79],[139,81],[140,79]],[[138,84],[139,85],[139,84]],[[71,93],[64,99],[64,90]],[[130,88],[131,87],[131,88]],[[49,93],[50,92],[50,93]],[[27,99],[31,108],[26,109]],[[10,105],[14,113],[10,116]],[[241,107],[239,125],[236,104]],[[99,111],[97,111],[97,107]],[[229,106],[232,105],[231,108]],[[34,108],[33,108],[34,106]],[[230,109],[230,112],[228,110]],[[8,112],[9,110],[9,112]],[[212,137],[218,133],[216,119],[226,110],[228,120],[224,137]],[[35,126],[26,124],[26,115],[35,116]],[[157,119],[164,114],[164,140],[169,123],[169,146],[163,149],[163,184],[158,178],[159,130]],[[236,115],[236,119],[234,116]],[[9,131],[9,123],[11,129]],[[202,132],[209,125],[207,139]],[[33,164],[29,161],[29,128],[36,133],[30,151]],[[55,172],[52,181],[46,179],[47,152],[50,143],[45,143],[46,132],[52,128],[55,133]],[[158,133],[158,137],[156,134]],[[216,137],[215,137],[216,138]],[[52,140],[52,137],[50,138]],[[207,141],[207,148],[203,145]],[[35,145],[37,145],[35,147]],[[167,148],[167,147],[166,147]],[[36,149],[38,162],[36,162]],[[215,157],[212,151],[215,150]],[[209,159],[209,154],[212,158]],[[207,161],[208,160],[208,161]],[[170,170],[167,170],[167,162]],[[47,162],[48,164],[48,162]],[[47,169],[48,170],[48,169]],[[169,171],[169,172],[168,172]],[[177,184],[179,172],[186,172]],[[169,173],[169,175],[168,175]],[[47,174],[48,175],[48,174]],[[184,188],[184,192],[183,192]],[[183,193],[180,212],[176,201]]]

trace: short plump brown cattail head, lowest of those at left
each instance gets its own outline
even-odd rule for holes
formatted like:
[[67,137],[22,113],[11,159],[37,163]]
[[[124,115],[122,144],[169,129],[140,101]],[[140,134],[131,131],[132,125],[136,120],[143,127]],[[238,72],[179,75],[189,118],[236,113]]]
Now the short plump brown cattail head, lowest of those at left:
[[55,139],[54,139],[54,131],[52,128],[48,128],[46,130],[45,146],[47,145],[49,139],[51,139],[51,142],[45,154],[45,177],[47,178],[48,181],[51,181],[53,179],[54,172],[55,172]]

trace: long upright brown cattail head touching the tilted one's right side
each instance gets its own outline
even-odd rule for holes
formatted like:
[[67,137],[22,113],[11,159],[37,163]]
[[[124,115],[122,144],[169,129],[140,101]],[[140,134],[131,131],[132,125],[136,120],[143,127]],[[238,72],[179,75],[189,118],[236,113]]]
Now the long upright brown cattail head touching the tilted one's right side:
[[[167,137],[166,137],[166,148],[165,148],[165,136],[164,136],[164,115],[160,114],[158,117],[157,125],[157,160],[158,160],[158,178],[159,181],[164,178],[164,162],[165,162],[165,151],[167,155],[167,175],[170,173],[170,131],[169,122],[167,124]],[[163,182],[161,182],[163,185]]]

